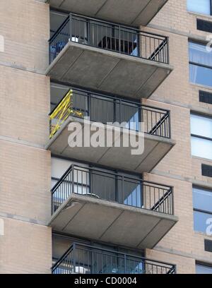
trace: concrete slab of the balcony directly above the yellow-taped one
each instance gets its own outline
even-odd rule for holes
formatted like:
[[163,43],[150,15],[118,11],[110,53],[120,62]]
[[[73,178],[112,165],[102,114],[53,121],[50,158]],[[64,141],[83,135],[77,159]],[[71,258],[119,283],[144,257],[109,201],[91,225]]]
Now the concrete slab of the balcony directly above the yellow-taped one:
[[167,64],[68,42],[46,74],[71,85],[141,99],[150,97],[171,71]]

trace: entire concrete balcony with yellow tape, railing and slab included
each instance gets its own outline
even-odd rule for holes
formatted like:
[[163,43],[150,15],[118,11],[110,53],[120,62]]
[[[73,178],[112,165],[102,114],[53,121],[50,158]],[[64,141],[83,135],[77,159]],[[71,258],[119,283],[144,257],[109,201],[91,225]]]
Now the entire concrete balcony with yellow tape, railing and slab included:
[[[84,121],[86,116],[90,117],[90,121]],[[85,90],[70,90],[49,117],[50,139],[46,148],[54,155],[76,160],[132,172],[151,172],[175,145],[170,135],[169,111],[90,94]],[[76,122],[80,124],[78,135],[83,136],[80,147],[73,145],[73,139],[70,140],[69,124]],[[107,125],[108,122],[110,125]],[[114,126],[115,122],[122,126]],[[99,127],[98,123],[102,123],[102,126]],[[95,129],[99,129],[104,136],[99,145],[90,143]],[[88,145],[84,141],[86,131],[90,131]],[[107,133],[111,133],[110,137]],[[129,139],[129,134],[136,139],[137,146],[130,140],[129,145],[124,145],[124,139]],[[107,142],[109,138],[110,145]],[[141,148],[141,152],[136,155],[132,151],[138,148]]]

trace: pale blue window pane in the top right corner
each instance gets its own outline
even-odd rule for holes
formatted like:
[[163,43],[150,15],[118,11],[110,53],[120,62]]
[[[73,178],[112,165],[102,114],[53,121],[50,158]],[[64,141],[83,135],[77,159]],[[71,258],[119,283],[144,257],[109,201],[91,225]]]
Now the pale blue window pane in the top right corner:
[[211,15],[211,0],[187,0],[187,10],[191,12]]

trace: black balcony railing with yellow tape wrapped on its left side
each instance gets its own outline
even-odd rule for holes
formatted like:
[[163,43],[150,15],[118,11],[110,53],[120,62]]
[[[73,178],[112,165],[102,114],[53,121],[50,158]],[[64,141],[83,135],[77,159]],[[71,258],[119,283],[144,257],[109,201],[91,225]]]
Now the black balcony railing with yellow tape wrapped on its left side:
[[170,111],[142,105],[117,97],[109,97],[86,90],[69,90],[61,102],[49,114],[50,138],[61,128],[69,116],[83,118],[103,124],[118,122],[124,128],[163,138],[171,138]]

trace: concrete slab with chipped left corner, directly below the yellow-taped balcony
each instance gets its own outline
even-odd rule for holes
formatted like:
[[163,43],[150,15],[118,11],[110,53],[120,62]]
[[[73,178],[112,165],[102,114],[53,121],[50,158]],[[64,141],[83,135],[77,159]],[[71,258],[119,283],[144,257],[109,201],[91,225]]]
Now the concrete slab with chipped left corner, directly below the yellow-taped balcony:
[[177,217],[71,194],[48,225],[57,232],[134,248],[153,248]]

